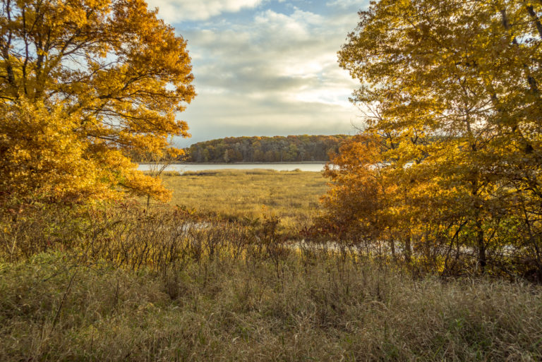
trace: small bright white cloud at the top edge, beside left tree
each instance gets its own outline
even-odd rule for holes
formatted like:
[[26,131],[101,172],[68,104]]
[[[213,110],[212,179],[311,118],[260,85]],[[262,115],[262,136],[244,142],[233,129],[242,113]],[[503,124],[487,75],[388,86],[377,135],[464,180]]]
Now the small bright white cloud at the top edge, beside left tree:
[[255,8],[262,0],[148,0],[150,8],[168,22],[207,20],[222,13],[235,13],[243,8]]

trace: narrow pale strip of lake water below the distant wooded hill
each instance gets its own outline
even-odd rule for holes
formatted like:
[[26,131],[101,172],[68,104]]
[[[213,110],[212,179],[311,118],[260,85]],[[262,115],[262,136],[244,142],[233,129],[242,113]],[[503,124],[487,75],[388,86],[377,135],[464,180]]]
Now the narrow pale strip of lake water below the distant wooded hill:
[[[325,163],[318,164],[170,164],[166,171],[203,171],[205,169],[274,169],[276,171],[322,171]],[[140,171],[148,171],[150,164],[140,164]]]

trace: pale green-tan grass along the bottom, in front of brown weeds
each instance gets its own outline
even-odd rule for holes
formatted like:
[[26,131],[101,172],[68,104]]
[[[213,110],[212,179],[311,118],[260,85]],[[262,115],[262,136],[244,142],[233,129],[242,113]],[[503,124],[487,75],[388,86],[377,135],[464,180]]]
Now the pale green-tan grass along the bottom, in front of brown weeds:
[[[301,254],[300,254],[301,253]],[[0,265],[0,361],[540,361],[542,291],[301,251],[164,277],[65,253]]]

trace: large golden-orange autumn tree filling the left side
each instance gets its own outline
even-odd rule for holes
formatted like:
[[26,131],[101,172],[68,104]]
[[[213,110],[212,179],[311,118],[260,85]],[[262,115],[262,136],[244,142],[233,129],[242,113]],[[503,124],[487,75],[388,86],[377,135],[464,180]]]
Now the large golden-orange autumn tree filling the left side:
[[127,155],[175,157],[195,92],[186,41],[143,0],[3,0],[4,198],[165,199]]

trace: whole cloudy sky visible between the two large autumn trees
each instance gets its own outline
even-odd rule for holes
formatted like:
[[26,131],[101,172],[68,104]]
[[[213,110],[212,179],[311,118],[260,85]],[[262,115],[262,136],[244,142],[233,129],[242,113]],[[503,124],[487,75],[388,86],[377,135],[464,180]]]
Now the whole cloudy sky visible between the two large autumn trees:
[[252,135],[354,134],[359,86],[337,63],[368,0],[147,0],[188,42],[186,147]]

